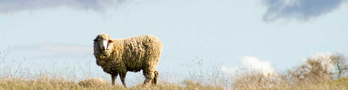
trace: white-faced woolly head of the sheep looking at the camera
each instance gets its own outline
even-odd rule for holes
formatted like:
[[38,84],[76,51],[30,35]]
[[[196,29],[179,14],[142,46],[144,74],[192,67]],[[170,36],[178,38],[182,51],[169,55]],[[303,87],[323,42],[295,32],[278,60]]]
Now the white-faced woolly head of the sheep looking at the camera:
[[110,44],[113,43],[112,38],[105,33],[99,34],[94,41],[94,52],[102,51],[104,56],[109,53]]

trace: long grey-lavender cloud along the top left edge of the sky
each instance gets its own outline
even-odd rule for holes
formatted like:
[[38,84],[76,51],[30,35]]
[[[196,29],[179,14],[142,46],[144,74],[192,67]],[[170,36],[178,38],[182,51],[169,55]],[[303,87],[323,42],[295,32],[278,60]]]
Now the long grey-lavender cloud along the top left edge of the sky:
[[59,6],[103,11],[126,1],[141,0],[0,0],[0,13]]

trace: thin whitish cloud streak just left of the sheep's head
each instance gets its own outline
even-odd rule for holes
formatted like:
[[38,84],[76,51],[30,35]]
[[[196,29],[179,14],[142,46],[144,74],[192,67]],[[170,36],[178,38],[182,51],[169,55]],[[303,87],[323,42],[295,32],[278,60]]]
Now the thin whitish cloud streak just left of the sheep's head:
[[62,46],[62,45],[42,45],[41,50],[55,51],[55,52],[92,52],[93,48],[83,46]]

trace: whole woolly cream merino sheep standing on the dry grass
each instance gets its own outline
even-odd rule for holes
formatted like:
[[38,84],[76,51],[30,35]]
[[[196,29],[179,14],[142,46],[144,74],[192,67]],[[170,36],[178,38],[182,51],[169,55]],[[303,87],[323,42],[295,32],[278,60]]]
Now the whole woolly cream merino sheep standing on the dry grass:
[[98,66],[111,74],[112,85],[117,75],[126,87],[125,78],[128,71],[143,70],[144,85],[157,85],[157,65],[162,53],[162,42],[152,35],[112,39],[108,34],[99,34],[94,40],[94,56]]

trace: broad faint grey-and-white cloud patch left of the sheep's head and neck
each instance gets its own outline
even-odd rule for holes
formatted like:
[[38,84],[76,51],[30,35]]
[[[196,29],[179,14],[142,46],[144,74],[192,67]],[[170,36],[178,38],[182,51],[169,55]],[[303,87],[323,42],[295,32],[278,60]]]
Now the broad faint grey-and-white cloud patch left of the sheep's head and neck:
[[9,50],[26,59],[84,59],[93,56],[93,46],[66,43],[38,43],[34,45],[14,45]]

